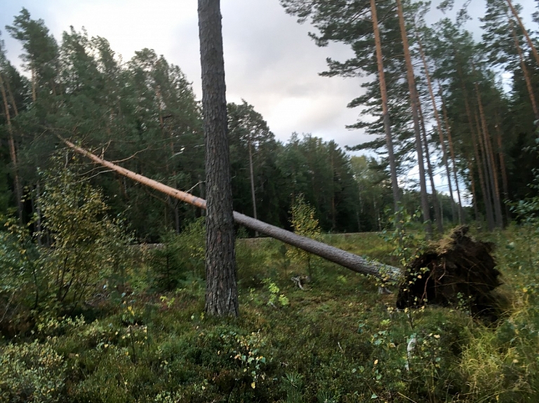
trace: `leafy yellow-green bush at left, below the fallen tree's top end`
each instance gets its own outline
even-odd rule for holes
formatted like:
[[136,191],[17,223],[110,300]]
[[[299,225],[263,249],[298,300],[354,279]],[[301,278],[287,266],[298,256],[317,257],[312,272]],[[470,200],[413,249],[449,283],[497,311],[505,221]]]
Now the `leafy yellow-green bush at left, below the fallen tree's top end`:
[[[44,303],[74,308],[91,287],[112,274],[125,272],[130,238],[123,224],[108,214],[102,193],[71,168],[44,173],[44,192],[39,198],[44,232],[50,239],[44,250],[39,278]],[[48,305],[47,309],[53,308]]]

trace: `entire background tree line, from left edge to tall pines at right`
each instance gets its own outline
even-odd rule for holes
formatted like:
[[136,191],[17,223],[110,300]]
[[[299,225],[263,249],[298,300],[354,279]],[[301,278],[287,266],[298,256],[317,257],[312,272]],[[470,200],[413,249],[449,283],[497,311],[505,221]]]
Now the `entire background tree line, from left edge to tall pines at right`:
[[[452,3],[439,7],[449,11]],[[349,128],[375,136],[352,147],[375,157],[350,156],[312,135],[294,133],[279,142],[252,105],[230,103],[234,210],[290,228],[293,200],[304,195],[324,231],[353,232],[379,231],[399,206],[421,206],[423,221],[442,231],[448,221],[472,219],[503,226],[511,219],[505,202],[535,194],[527,185],[538,161],[527,150],[536,138],[538,61],[519,6],[486,1],[476,42],[465,30],[467,2],[454,21],[434,24],[425,22],[430,4],[418,1],[281,4],[300,22],[312,22],[317,45],[340,42],[354,51],[349,60],[328,59],[322,75],[371,78],[349,104],[361,108]],[[6,31],[22,45],[27,74],[8,61],[2,44],[1,212],[13,210],[23,222],[37,217],[39,231],[40,172],[61,148],[55,135],[206,198],[202,107],[180,67],[149,49],[124,62],[105,38],[84,29],[71,27],[58,42],[25,8]],[[507,74],[509,89],[500,81]],[[404,184],[412,169],[418,179]],[[88,170],[141,240],[180,232],[202,214],[117,175]],[[437,189],[439,172],[448,192]]]

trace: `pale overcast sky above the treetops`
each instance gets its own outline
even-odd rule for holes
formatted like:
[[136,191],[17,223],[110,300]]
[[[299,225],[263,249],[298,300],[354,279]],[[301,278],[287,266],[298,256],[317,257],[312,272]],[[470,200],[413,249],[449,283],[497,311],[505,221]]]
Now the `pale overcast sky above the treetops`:
[[[524,22],[535,29],[530,18],[533,0],[519,2],[525,7]],[[483,4],[472,0],[472,16],[481,15]],[[22,7],[32,18],[42,18],[58,41],[73,25],[108,39],[124,60],[135,50],[154,49],[184,71],[200,99],[197,0],[3,0],[2,39],[17,66],[22,50],[4,26],[11,25]],[[345,60],[351,54],[348,48],[318,48],[307,36],[312,27],[299,25],[278,0],[221,0],[221,10],[227,101],[243,98],[253,104],[282,141],[292,132],[334,139],[340,146],[372,139],[345,128],[357,120],[359,110],[346,105],[359,95],[364,78],[318,75],[326,69],[326,57]],[[472,29],[474,25],[477,22]]]

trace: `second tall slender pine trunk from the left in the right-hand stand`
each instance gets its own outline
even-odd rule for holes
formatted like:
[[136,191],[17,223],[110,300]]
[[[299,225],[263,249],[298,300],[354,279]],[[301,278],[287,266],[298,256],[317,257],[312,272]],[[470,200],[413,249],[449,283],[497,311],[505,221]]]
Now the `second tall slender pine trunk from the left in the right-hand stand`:
[[408,78],[408,90],[410,91],[410,100],[412,107],[413,130],[415,132],[415,149],[418,153],[419,184],[421,192],[421,205],[423,219],[425,220],[425,231],[427,238],[432,237],[432,224],[430,222],[430,209],[427,200],[427,183],[425,182],[425,165],[423,163],[423,151],[421,146],[421,133],[419,128],[417,95],[415,95],[415,78],[413,74],[412,58],[408,46],[408,34],[406,34],[406,25],[404,22],[404,12],[402,10],[401,0],[397,0],[397,13],[399,13],[399,22],[401,27],[402,46],[404,48],[404,59],[406,60],[406,72]]

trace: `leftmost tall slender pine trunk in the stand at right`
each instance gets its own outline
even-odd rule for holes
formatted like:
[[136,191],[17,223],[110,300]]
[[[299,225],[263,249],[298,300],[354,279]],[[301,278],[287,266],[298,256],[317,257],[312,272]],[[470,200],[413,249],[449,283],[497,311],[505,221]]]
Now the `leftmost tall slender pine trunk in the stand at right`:
[[[397,181],[397,163],[393,152],[393,140],[391,134],[390,110],[387,107],[387,88],[385,85],[384,61],[382,56],[382,43],[380,41],[380,30],[378,29],[378,15],[376,13],[375,0],[371,0],[371,14],[373,17],[374,42],[376,46],[376,62],[378,64],[378,83],[380,84],[380,95],[382,97],[382,114],[385,130],[385,144],[387,146],[387,159],[390,161],[391,186],[393,190],[393,204],[395,214],[399,213],[399,182]],[[399,220],[397,219],[397,223]],[[399,224],[397,224],[397,227]]]

